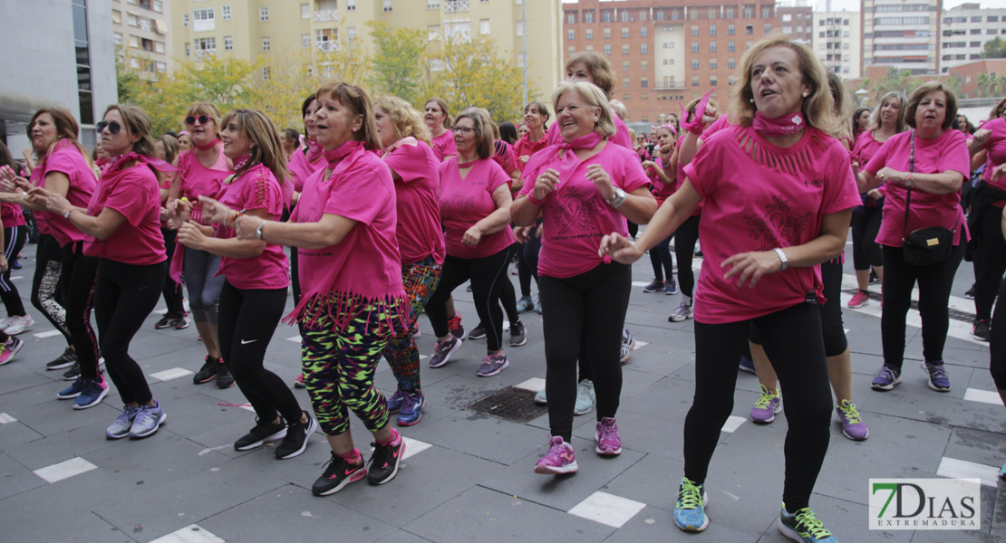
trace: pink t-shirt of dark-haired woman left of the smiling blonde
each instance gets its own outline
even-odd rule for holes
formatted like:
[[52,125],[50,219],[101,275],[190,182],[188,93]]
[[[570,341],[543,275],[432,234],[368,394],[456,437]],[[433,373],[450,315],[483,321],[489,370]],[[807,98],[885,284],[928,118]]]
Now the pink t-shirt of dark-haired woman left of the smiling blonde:
[[482,236],[475,247],[461,243],[469,228],[496,211],[493,191],[510,183],[510,176],[498,164],[492,159],[475,161],[465,179],[461,179],[458,157],[452,157],[441,163],[440,175],[440,217],[446,230],[444,241],[447,254],[458,258],[483,258],[495,255],[513,243],[510,225],[495,234]]

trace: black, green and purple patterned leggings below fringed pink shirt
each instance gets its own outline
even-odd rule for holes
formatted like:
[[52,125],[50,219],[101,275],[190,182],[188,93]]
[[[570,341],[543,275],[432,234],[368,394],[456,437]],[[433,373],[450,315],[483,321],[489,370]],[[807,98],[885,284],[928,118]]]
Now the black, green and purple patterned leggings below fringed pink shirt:
[[[384,304],[370,304],[343,329],[328,311],[304,324],[301,337],[304,383],[326,436],[349,431],[349,411],[370,432],[387,426],[387,401],[374,388],[374,372],[391,331]],[[380,330],[380,331],[378,331]]]

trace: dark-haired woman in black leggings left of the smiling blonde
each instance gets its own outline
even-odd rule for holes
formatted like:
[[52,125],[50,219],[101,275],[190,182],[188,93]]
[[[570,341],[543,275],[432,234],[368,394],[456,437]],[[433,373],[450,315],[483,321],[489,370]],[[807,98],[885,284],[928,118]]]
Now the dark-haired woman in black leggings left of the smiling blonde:
[[[467,109],[454,124],[458,156],[440,166],[440,215],[444,222],[447,257],[440,284],[427,304],[437,334],[430,367],[441,367],[461,347],[450,332],[446,303],[452,291],[471,280],[479,319],[485,325],[486,356],[477,374],[488,377],[509,365],[503,352],[502,282],[513,255],[510,229],[510,177],[492,159],[492,120],[479,109]],[[523,323],[511,322],[523,328]]]

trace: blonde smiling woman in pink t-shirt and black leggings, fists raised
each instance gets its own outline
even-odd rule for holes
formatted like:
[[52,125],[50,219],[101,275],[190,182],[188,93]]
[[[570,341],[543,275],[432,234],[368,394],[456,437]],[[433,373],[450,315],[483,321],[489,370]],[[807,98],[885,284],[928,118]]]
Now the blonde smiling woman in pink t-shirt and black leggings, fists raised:
[[[573,473],[570,445],[577,360],[588,357],[597,393],[597,452],[622,453],[615,416],[622,394],[621,342],[632,268],[602,259],[602,236],[628,236],[626,219],[646,224],[657,209],[650,180],[630,149],[614,145],[615,122],[604,92],[566,81],[552,91],[555,129],[562,144],[535,156],[524,170],[514,206],[518,226],[544,217],[538,283],[544,312],[545,389],[549,449],[539,474]],[[582,376],[582,375],[581,375]]]

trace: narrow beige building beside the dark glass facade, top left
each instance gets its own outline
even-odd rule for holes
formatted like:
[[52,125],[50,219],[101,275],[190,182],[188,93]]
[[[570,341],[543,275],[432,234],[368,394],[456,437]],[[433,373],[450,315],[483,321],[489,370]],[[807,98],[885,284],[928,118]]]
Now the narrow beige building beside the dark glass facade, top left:
[[171,0],[112,0],[112,39],[133,67],[148,73],[172,68]]

